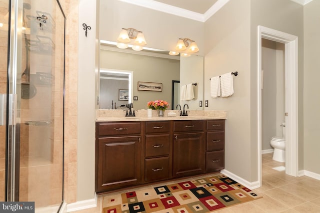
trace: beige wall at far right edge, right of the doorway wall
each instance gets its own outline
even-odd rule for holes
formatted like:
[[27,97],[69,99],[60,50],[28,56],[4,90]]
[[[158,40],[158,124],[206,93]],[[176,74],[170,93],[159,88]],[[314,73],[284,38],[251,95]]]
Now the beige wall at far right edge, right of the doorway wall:
[[304,170],[320,174],[320,1],[304,6]]

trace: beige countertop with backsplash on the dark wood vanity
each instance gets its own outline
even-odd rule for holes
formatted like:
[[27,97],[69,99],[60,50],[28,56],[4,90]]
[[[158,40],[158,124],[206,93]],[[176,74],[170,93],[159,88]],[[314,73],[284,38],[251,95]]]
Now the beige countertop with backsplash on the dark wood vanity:
[[[174,112],[175,117],[167,116],[169,112]],[[163,117],[157,116],[157,111],[152,110],[152,117],[147,117],[147,110],[140,109],[135,112],[135,117],[125,117],[123,110],[99,109],[95,111],[96,122],[112,122],[112,121],[168,121],[168,120],[214,120],[226,119],[225,111],[217,110],[190,110],[188,116],[179,116],[177,110],[165,110]]]

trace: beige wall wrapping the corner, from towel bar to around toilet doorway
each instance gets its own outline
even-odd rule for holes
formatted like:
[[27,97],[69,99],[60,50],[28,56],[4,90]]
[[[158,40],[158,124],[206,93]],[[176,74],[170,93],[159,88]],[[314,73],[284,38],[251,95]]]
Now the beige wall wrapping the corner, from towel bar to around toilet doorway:
[[[209,100],[208,109],[228,112],[225,126],[225,169],[249,182],[257,181],[258,178],[257,26],[263,25],[299,37],[299,148],[303,149],[302,21],[303,6],[291,0],[242,0],[227,2],[205,22],[207,48],[204,58],[204,97]],[[234,94],[228,98],[212,99],[208,79],[232,71],[239,72],[238,76],[233,77]],[[302,165],[303,153],[299,152],[300,169]]]

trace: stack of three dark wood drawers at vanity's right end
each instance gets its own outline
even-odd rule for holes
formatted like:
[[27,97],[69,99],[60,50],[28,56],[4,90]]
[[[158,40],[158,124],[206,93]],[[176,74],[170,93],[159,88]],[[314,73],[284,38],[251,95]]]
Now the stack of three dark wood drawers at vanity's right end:
[[224,169],[224,120],[206,121],[206,172]]

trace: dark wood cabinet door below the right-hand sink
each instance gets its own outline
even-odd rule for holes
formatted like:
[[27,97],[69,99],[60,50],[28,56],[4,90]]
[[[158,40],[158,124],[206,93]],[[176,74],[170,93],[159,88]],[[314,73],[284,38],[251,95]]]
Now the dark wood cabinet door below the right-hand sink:
[[176,178],[203,173],[203,133],[174,134],[173,138],[173,176]]

